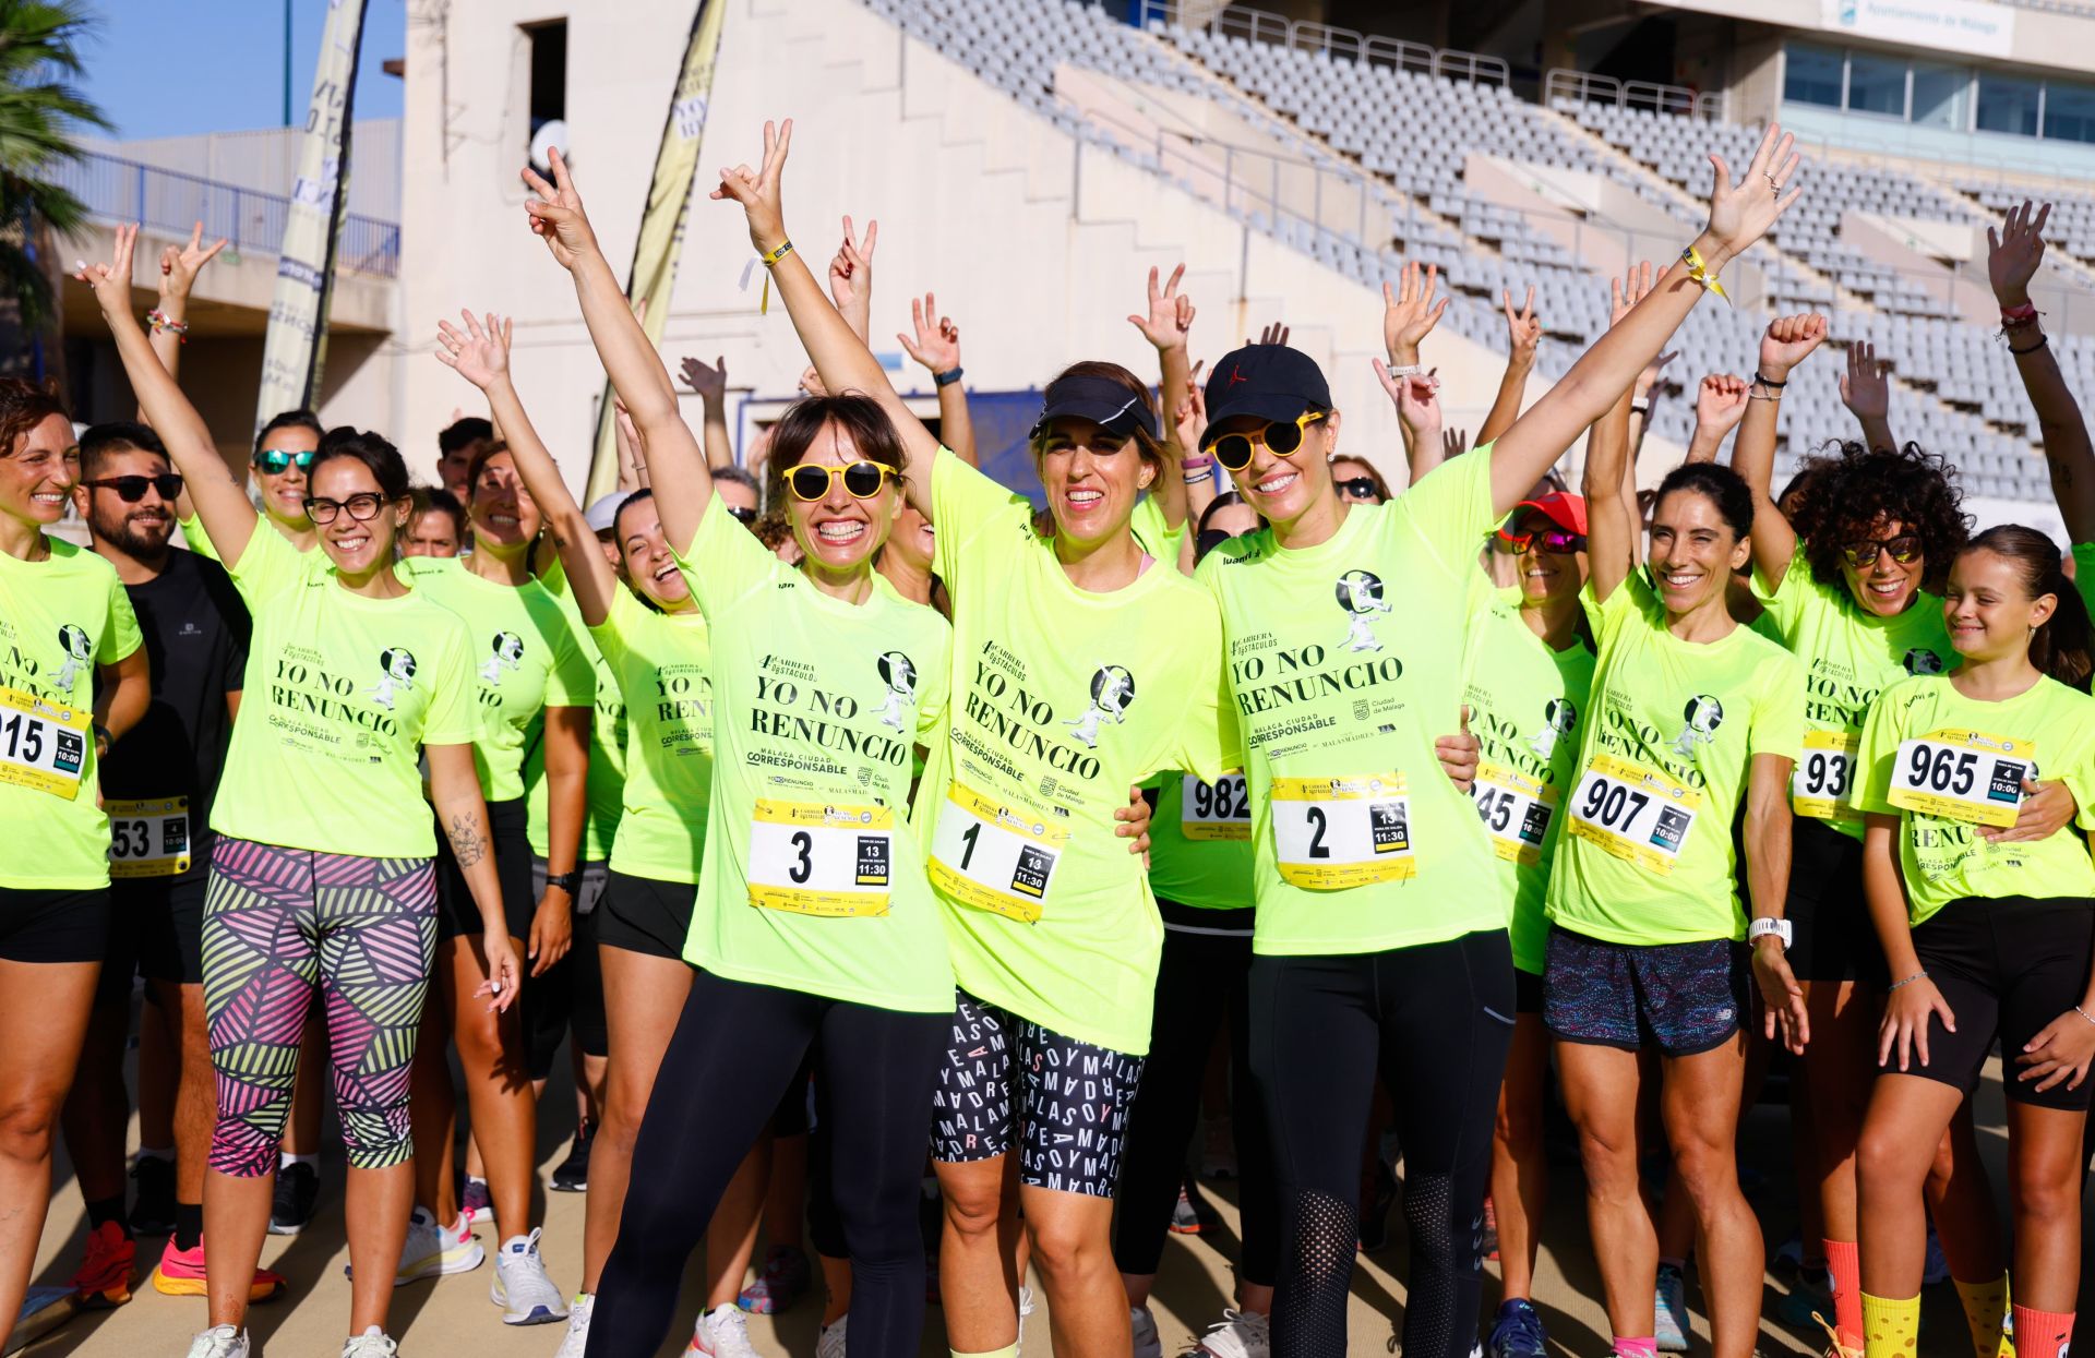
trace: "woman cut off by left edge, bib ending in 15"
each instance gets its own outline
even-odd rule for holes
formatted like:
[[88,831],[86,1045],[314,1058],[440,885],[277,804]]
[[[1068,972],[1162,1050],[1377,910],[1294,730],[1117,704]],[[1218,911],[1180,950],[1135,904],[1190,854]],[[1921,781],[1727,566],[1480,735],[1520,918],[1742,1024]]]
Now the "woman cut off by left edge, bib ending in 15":
[[[0,379],[0,1104],[34,1127],[0,1159],[0,1316],[21,1312],[50,1199],[50,1130],[73,1083],[109,935],[96,763],[151,700],[147,654],[103,557],[44,532],[80,480],[57,396]],[[96,694],[96,685],[101,694]],[[25,832],[36,826],[36,832]]]

